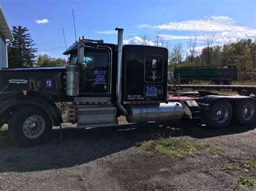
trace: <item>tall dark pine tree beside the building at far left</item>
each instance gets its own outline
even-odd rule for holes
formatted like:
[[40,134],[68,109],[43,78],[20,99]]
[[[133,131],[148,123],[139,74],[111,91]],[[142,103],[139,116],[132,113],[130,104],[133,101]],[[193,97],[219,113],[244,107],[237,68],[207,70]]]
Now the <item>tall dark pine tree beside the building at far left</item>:
[[35,52],[33,40],[28,29],[22,26],[12,26],[14,41],[8,47],[9,67],[32,67],[35,63]]

